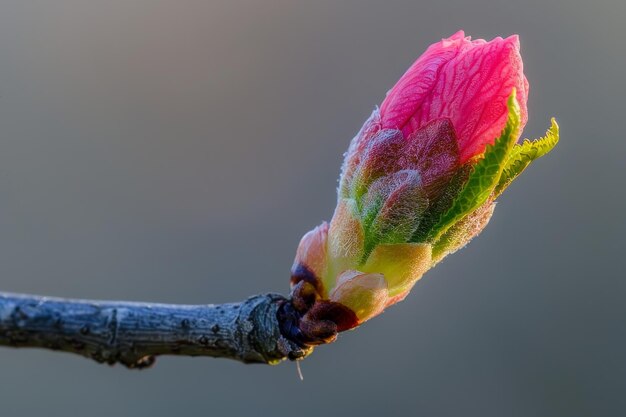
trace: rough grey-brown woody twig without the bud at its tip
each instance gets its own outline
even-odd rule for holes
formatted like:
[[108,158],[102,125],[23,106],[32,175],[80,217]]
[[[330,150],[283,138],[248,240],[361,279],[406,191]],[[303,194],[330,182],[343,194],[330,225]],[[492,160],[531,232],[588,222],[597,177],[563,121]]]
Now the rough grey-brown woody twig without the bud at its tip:
[[285,302],[278,294],[241,303],[170,305],[0,292],[0,346],[72,352],[129,368],[148,367],[157,355],[274,364],[312,351],[283,336],[276,313]]

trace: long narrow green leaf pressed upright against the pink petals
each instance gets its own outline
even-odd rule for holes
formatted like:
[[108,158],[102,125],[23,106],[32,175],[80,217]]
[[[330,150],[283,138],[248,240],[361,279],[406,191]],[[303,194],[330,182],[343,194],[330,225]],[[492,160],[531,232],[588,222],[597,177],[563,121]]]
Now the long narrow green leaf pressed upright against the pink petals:
[[437,241],[454,223],[487,201],[498,184],[519,135],[520,109],[515,90],[509,96],[507,107],[507,122],[500,137],[493,145],[487,145],[483,158],[473,166],[467,182],[450,208],[430,230],[427,241]]

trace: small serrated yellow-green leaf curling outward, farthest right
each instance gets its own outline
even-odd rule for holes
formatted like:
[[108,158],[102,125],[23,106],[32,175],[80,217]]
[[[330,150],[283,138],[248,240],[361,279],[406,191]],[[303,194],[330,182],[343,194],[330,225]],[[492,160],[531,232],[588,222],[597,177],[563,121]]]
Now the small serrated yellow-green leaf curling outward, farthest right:
[[494,190],[495,197],[499,196],[532,161],[550,152],[558,141],[559,125],[552,118],[552,125],[544,137],[534,141],[525,139],[521,145],[515,145]]

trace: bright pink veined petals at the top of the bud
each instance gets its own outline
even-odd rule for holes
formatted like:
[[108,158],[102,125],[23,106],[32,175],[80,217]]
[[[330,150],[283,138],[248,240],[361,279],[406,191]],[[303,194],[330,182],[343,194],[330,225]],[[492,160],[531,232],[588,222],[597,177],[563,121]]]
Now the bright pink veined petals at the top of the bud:
[[428,48],[398,81],[381,105],[382,124],[408,136],[434,119],[448,117],[463,163],[499,136],[514,87],[523,128],[528,82],[517,35],[486,42],[458,32]]

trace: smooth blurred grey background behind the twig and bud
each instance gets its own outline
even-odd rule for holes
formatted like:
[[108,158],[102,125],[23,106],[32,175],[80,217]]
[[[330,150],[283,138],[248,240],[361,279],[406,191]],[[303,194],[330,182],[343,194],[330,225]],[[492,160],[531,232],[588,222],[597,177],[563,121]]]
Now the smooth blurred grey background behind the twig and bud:
[[0,415],[623,416],[623,0],[1,1],[0,290],[288,291],[342,153],[413,60],[519,33],[562,141],[403,303],[303,364],[137,372],[0,348]]

